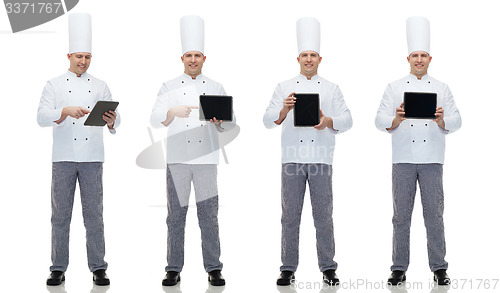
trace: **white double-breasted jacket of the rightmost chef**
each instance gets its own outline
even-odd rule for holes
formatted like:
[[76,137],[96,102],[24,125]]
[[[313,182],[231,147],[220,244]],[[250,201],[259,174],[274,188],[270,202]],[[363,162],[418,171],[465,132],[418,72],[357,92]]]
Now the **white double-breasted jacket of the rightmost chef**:
[[408,76],[390,83],[378,108],[375,125],[387,132],[396,117],[396,108],[404,100],[405,92],[429,92],[437,94],[437,107],[443,107],[443,130],[432,119],[406,119],[390,131],[392,134],[392,162],[410,164],[444,163],[445,136],[462,125],[462,119],[448,85],[424,75],[418,79]]

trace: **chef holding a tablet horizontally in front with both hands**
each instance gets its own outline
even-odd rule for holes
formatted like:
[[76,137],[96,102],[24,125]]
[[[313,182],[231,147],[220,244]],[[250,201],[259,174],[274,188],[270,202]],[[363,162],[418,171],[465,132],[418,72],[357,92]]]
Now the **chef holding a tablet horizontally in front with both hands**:
[[[392,274],[388,283],[397,285],[406,280],[410,261],[410,224],[417,182],[422,197],[427,230],[429,267],[434,281],[450,284],[444,257],[446,245],[443,223],[443,163],[445,137],[462,124],[460,113],[448,86],[427,74],[430,54],[430,24],[424,17],[406,21],[408,63],[410,74],[390,83],[382,97],[375,124],[392,135]],[[405,118],[405,92],[437,94],[435,119]]]

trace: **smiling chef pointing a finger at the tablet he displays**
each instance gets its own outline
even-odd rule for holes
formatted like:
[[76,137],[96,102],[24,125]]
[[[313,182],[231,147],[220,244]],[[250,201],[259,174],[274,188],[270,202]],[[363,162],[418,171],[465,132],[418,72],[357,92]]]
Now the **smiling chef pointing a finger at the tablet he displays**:
[[226,95],[222,85],[202,74],[204,21],[199,16],[180,20],[184,73],[163,83],[151,113],[151,125],[168,127],[167,137],[167,266],[163,286],[180,281],[184,266],[184,228],[193,182],[202,238],[203,265],[213,286],[225,285],[221,274],[217,164],[218,133],[234,127],[212,117],[200,121],[200,95]]

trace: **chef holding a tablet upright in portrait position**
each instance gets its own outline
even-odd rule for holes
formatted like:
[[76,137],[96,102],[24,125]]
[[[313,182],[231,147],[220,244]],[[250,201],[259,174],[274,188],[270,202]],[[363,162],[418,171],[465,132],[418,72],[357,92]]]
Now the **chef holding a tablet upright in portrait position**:
[[[318,265],[323,280],[339,283],[333,260],[332,162],[335,136],[352,127],[352,118],[339,87],[318,75],[320,23],[314,18],[297,21],[300,74],[277,85],[264,114],[266,128],[281,125],[281,274],[278,285],[289,285],[299,261],[299,227],[306,182],[309,182]],[[314,127],[295,127],[295,93],[319,93],[320,122]]]

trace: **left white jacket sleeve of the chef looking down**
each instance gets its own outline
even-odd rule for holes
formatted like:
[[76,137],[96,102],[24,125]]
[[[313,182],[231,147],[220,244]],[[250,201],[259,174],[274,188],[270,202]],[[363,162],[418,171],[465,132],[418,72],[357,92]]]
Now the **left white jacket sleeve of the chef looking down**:
[[57,126],[54,121],[61,118],[62,108],[56,108],[55,90],[50,81],[47,81],[38,104],[37,121],[41,127]]

